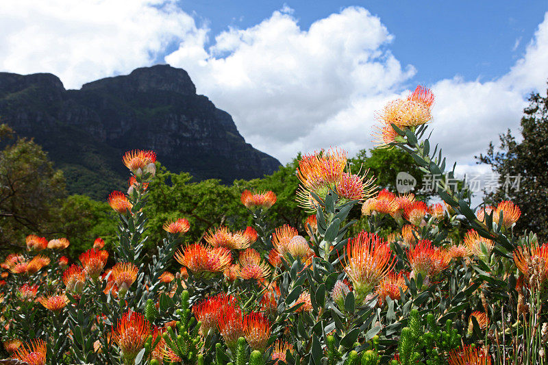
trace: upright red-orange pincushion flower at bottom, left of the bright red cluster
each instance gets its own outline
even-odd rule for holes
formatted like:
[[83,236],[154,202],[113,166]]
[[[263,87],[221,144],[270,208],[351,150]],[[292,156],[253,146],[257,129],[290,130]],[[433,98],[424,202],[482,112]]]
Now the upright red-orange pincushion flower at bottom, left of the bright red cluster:
[[125,364],[133,364],[150,334],[150,323],[142,314],[130,311],[123,314],[116,329],[112,329],[112,339],[120,347]]

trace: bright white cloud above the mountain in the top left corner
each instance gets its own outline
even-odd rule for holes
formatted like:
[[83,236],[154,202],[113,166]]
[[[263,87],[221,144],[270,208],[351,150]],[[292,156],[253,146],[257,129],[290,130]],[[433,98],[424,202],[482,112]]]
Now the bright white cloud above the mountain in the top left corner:
[[54,73],[66,88],[147,66],[206,32],[175,0],[8,0],[0,24],[1,70]]

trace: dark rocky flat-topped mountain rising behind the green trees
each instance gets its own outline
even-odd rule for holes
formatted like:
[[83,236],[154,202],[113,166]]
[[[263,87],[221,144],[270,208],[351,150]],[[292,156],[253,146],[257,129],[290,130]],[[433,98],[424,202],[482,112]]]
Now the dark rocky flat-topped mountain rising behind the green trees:
[[162,64],[65,90],[55,75],[0,73],[0,123],[41,144],[71,193],[104,199],[123,188],[125,151],[151,149],[195,179],[252,179],[279,162],[254,149],[232,117],[197,95],[186,71]]

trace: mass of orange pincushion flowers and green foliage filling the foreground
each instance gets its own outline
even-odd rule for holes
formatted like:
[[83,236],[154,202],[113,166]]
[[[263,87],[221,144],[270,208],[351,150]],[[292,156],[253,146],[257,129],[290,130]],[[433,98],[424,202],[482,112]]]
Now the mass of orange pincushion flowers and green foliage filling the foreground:
[[[345,151],[327,149],[296,171],[306,231],[271,227],[275,192],[245,190],[253,227],[185,242],[180,217],[152,257],[142,255],[142,208],[155,154],[129,151],[129,190],[108,199],[119,222],[112,252],[98,238],[71,263],[68,240],[29,235],[27,251],[5,257],[3,362],[544,364],[548,246],[514,236],[511,201],[473,209],[465,185],[447,183],[454,166],[425,138],[433,103],[420,86],[388,103],[376,138],[445,176],[442,203],[378,191],[374,177],[349,171]],[[358,204],[366,229],[349,237]],[[398,229],[384,236],[389,221]],[[451,234],[460,225],[463,240]]]

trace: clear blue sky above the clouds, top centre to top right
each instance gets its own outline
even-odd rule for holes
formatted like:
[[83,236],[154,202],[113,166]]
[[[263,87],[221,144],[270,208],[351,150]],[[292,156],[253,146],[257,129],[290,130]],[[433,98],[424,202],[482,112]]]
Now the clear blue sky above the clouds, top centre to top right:
[[[508,73],[525,51],[548,10],[547,1],[179,1],[180,8],[206,23],[211,36],[228,27],[247,28],[284,5],[308,29],[342,8],[362,6],[379,16],[395,36],[390,50],[413,64],[411,83],[432,84],[462,75],[493,79]],[[213,37],[212,37],[213,38]]]

